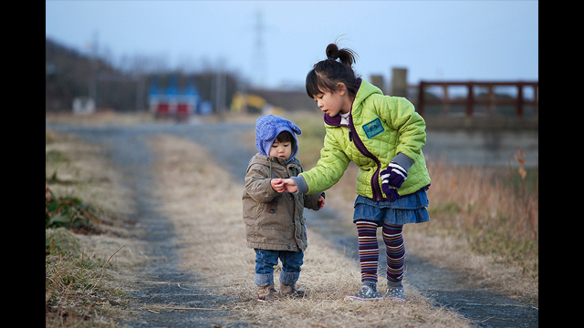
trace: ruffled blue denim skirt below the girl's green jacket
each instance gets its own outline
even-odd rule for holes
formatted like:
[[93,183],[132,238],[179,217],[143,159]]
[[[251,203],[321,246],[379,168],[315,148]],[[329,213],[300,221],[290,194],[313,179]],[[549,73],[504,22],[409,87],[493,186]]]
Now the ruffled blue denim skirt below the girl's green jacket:
[[393,225],[427,222],[430,220],[427,206],[426,190],[417,191],[395,201],[373,201],[367,197],[357,196],[353,222],[359,219],[377,220],[378,223]]

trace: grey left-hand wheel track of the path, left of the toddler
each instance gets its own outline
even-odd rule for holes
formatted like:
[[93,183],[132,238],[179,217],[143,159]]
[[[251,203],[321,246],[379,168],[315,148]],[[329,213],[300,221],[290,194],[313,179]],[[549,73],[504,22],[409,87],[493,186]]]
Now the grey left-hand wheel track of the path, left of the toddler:
[[[78,135],[85,141],[99,143],[110,149],[114,164],[125,177],[124,184],[135,191],[136,214],[130,217],[138,223],[141,240],[145,241],[144,253],[148,265],[137,272],[137,291],[130,293],[130,312],[141,313],[124,326],[128,327],[209,327],[211,324],[237,327],[236,323],[225,323],[225,304],[230,300],[204,292],[200,278],[193,272],[179,268],[181,261],[177,251],[176,231],[172,222],[158,208],[151,164],[155,154],[151,153],[148,139],[162,133],[165,127],[99,127],[56,128],[62,132]],[[169,310],[170,308],[170,310]],[[185,310],[186,309],[186,310]],[[201,309],[201,310],[199,310]],[[162,311],[164,310],[164,311]]]

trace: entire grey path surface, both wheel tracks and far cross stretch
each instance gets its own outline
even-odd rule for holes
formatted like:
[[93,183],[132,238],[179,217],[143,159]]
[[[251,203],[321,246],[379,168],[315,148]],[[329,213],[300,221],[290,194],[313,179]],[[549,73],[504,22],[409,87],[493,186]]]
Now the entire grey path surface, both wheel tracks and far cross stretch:
[[[209,327],[212,323],[227,327],[246,326],[241,322],[226,322],[229,299],[203,292],[200,278],[193,272],[179,269],[180,246],[173,242],[176,231],[167,218],[157,210],[160,200],[152,190],[155,183],[151,174],[151,163],[155,154],[148,148],[148,138],[158,134],[171,134],[197,142],[207,149],[219,163],[232,172],[235,179],[243,182],[247,161],[255,153],[250,147],[237,147],[234,142],[243,137],[253,125],[235,123],[192,125],[139,125],[133,127],[74,128],[47,125],[47,129],[74,133],[89,142],[97,142],[110,148],[114,162],[124,170],[125,183],[136,191],[139,228],[143,240],[148,241],[147,256],[150,265],[140,272],[138,292],[132,294],[136,310],[141,315],[131,327],[191,326]],[[226,160],[229,159],[229,160]],[[349,222],[332,210],[307,211],[309,228],[335,241],[339,250],[344,248],[347,256],[357,259],[356,234]],[[381,256],[381,261],[382,260]],[[438,268],[407,254],[408,273],[406,279],[425,295],[430,296],[436,306],[444,306],[463,314],[481,327],[536,327],[538,311],[493,292],[476,289],[466,282],[462,273]],[[381,263],[381,267],[384,263]],[[382,276],[382,275],[381,275]],[[194,297],[196,296],[196,297]],[[171,311],[160,311],[163,307]],[[182,310],[189,309],[189,310]],[[205,310],[200,310],[205,309]]]

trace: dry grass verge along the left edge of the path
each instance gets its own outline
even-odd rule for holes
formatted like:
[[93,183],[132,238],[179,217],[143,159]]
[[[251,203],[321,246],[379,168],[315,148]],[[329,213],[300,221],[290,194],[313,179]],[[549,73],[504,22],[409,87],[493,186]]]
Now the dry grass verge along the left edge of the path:
[[145,261],[143,245],[124,226],[133,209],[130,190],[110,167],[104,149],[68,135],[46,133],[46,184],[57,197],[88,202],[99,235],[46,230],[46,326],[113,327],[127,302],[125,286]]

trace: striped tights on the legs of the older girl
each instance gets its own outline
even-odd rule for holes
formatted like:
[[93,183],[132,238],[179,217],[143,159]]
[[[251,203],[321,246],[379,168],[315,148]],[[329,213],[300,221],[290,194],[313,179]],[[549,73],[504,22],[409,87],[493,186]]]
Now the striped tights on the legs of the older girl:
[[[359,235],[359,261],[361,282],[377,282],[379,246],[377,243],[378,222],[374,220],[356,220]],[[404,273],[405,245],[401,236],[401,225],[383,224],[381,231],[385,243],[387,260],[387,279],[401,282]]]

